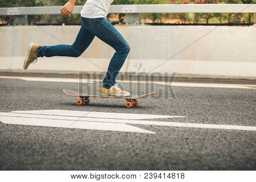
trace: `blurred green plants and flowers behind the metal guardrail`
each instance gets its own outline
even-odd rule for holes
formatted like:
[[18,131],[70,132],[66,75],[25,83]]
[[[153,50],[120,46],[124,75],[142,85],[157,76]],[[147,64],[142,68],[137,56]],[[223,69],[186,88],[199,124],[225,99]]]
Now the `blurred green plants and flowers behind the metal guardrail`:
[[[63,0],[3,0],[0,7],[32,7],[32,6],[63,6]],[[77,0],[76,5],[84,5],[86,0]],[[114,0],[112,5],[134,4],[250,4],[255,0]],[[185,5],[184,5],[185,6]],[[109,14],[107,17],[112,23],[125,23],[125,14]],[[80,24],[80,15],[73,14],[70,18],[61,15],[29,15],[30,24]],[[253,13],[150,13],[141,14],[144,24],[230,24],[242,25],[255,23]],[[12,24],[12,16],[0,16],[0,24]]]

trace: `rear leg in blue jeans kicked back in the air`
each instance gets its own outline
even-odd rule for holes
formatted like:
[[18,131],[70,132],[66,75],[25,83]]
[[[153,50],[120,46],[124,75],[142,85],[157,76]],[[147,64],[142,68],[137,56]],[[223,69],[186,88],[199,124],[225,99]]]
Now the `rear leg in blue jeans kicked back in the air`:
[[39,46],[36,51],[37,57],[67,56],[79,57],[90,46],[95,35],[92,34],[82,23],[79,34],[72,45],[60,44],[56,46]]

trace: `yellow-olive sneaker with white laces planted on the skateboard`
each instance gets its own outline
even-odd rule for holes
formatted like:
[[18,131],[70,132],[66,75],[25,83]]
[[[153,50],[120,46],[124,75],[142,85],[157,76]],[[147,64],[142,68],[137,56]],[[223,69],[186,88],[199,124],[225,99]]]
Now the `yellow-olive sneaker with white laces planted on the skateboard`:
[[109,89],[103,87],[100,89],[100,96],[129,97],[130,95],[130,92],[126,92],[118,88],[118,84],[115,84]]

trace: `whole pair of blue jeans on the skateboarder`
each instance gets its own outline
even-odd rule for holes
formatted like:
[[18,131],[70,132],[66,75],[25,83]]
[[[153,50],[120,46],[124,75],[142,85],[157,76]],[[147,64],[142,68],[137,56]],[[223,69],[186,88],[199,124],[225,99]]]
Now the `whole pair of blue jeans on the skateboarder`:
[[81,17],[81,28],[72,45],[39,46],[36,56],[79,57],[90,46],[95,36],[109,44],[116,51],[110,60],[106,77],[102,81],[104,88],[110,88],[115,84],[115,79],[130,52],[130,46],[117,29],[105,18]]

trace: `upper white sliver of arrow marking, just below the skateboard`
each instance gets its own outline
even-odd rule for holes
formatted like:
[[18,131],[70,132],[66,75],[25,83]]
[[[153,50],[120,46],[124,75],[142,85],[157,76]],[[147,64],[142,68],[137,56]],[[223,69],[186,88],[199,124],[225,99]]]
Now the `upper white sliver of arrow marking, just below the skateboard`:
[[86,117],[86,118],[113,118],[113,119],[155,119],[155,118],[183,118],[184,117],[184,116],[174,116],[174,115],[102,113],[102,112],[75,111],[75,110],[28,110],[28,111],[12,111],[11,113],[45,114],[45,115],[60,115],[60,116]]

